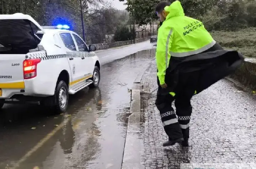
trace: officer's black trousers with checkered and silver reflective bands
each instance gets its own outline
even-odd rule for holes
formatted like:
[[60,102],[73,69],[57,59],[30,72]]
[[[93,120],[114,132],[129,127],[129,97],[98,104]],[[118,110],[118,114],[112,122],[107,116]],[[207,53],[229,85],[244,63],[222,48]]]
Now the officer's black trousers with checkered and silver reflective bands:
[[[160,111],[162,124],[169,139],[189,138],[189,122],[192,113],[190,100],[195,93],[198,78],[199,73],[195,72],[181,75],[174,96],[161,93],[162,88],[158,79],[159,87],[155,105]],[[175,101],[176,113],[172,107],[173,101]]]

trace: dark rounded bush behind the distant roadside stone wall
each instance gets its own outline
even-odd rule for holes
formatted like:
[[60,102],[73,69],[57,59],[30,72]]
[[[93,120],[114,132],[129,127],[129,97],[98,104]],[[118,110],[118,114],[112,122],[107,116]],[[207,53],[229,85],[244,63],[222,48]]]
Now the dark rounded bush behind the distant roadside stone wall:
[[132,34],[126,25],[122,25],[121,27],[118,27],[114,34],[115,41],[127,41],[127,40],[131,40],[131,38],[132,38]]

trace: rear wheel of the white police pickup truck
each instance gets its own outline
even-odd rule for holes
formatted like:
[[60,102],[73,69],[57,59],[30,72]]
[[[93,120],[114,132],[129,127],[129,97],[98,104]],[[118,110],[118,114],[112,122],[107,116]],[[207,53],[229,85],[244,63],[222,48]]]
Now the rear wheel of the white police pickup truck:
[[58,113],[65,112],[68,107],[68,86],[64,81],[60,81],[55,89],[56,105],[55,109]]

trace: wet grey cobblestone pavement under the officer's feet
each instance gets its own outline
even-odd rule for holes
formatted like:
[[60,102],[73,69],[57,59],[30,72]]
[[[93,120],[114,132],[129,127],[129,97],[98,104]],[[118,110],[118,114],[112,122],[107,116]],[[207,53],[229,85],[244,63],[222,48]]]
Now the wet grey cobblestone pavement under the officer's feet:
[[167,140],[167,135],[154,104],[156,88],[156,66],[155,62],[152,62],[141,82],[141,102],[144,111],[144,153],[141,154],[141,163],[146,169],[179,169],[181,163],[256,161],[254,96],[235,87],[226,79],[220,80],[192,98],[190,146],[181,147],[176,144],[164,148],[162,143]]

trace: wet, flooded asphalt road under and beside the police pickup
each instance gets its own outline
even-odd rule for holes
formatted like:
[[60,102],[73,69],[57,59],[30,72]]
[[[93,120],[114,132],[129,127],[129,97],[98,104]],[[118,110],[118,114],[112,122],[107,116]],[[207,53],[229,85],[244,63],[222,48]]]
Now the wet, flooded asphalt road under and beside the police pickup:
[[71,95],[64,114],[36,104],[6,104],[0,111],[0,169],[120,169],[128,89],[152,60],[150,50],[125,56],[152,47],[147,41],[99,51],[100,87]]

